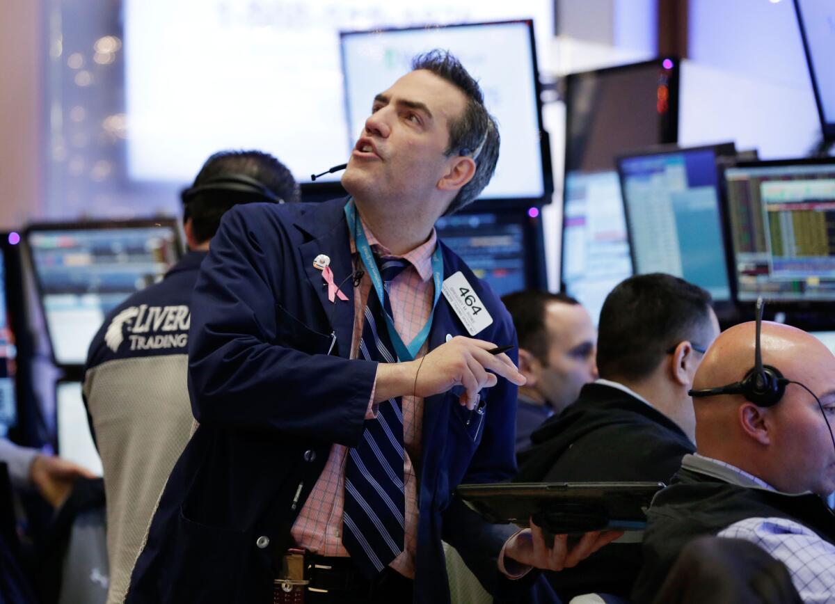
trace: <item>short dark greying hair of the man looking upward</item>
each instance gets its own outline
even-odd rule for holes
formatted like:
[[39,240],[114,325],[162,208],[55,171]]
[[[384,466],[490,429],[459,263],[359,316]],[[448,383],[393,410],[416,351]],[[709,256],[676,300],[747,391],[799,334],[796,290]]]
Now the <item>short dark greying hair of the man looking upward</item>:
[[496,119],[484,106],[484,94],[478,82],[468,74],[458,58],[443,50],[435,49],[419,54],[412,60],[412,70],[426,69],[443,78],[467,97],[463,114],[450,119],[449,145],[446,155],[468,155],[475,161],[473,179],[463,185],[445,214],[452,214],[475,200],[493,178],[498,162],[498,136]]

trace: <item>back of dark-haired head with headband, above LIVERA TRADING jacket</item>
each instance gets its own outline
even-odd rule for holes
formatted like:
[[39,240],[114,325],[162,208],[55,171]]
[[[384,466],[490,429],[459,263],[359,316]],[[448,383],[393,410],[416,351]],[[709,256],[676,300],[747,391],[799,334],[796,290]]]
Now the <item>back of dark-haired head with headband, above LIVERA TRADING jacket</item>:
[[220,217],[232,206],[299,199],[299,185],[290,170],[272,155],[261,151],[215,153],[206,160],[194,184],[183,191],[183,223],[189,224],[190,246],[208,243],[220,226]]

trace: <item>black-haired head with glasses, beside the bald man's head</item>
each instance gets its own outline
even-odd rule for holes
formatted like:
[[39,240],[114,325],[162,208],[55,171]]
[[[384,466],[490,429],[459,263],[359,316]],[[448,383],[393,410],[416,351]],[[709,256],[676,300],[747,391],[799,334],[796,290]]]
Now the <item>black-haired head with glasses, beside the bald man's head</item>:
[[719,334],[711,295],[663,273],[630,277],[606,297],[598,329],[600,377],[641,393],[694,439],[687,390]]

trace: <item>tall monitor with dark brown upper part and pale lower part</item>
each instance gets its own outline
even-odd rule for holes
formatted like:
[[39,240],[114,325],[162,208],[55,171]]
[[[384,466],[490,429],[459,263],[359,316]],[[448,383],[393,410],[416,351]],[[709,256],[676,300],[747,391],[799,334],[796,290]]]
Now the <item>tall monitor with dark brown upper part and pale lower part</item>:
[[674,58],[566,78],[560,278],[595,322],[612,287],[632,274],[615,158],[676,142],[678,81]]

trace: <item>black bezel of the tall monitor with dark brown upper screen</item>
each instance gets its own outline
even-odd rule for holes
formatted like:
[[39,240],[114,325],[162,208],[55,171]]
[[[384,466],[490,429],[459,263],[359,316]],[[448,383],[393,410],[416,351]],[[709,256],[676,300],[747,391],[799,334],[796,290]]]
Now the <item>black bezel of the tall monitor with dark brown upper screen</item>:
[[[658,141],[659,145],[666,145],[666,144],[675,144],[678,140],[678,121],[679,121],[679,80],[681,74],[681,59],[675,56],[663,56],[652,58],[648,61],[640,61],[638,63],[627,63],[625,65],[615,65],[614,67],[606,67],[603,69],[590,69],[589,71],[582,71],[576,72],[574,74],[568,74],[565,77],[565,91],[563,94],[564,101],[565,101],[565,145],[564,145],[564,153],[563,153],[563,193],[562,193],[562,211],[560,216],[560,225],[559,225],[559,290],[560,292],[564,292],[567,294],[571,294],[568,291],[568,285],[565,282],[565,207],[568,204],[568,187],[565,186],[565,183],[568,179],[569,170],[567,169],[569,165],[569,124],[571,124],[572,114],[574,112],[573,103],[571,102],[571,95],[569,94],[569,90],[574,85],[573,83],[581,78],[589,78],[595,76],[605,76],[607,74],[620,74],[620,73],[629,73],[630,71],[637,71],[640,69],[647,69],[650,67],[654,67],[656,69],[665,69],[664,61],[671,60],[673,63],[672,69],[670,69],[670,79],[668,81],[668,88],[670,89],[670,107],[667,110],[665,117],[659,118],[661,119],[660,124],[660,139]],[[615,158],[616,158],[615,154]],[[617,170],[617,165],[612,166],[612,171]],[[571,170],[571,172],[578,172],[579,174],[600,174],[602,171],[608,170],[594,170],[594,171],[584,171],[584,170]],[[630,248],[630,255],[631,255],[631,248]]]

